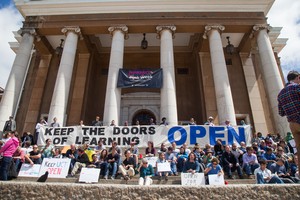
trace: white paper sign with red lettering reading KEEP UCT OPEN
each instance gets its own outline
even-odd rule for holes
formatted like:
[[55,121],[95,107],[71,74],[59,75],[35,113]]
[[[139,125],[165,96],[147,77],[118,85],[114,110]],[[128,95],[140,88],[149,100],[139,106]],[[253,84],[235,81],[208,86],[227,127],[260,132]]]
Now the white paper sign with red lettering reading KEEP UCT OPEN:
[[69,158],[44,158],[39,176],[49,172],[49,178],[66,178],[71,159]]

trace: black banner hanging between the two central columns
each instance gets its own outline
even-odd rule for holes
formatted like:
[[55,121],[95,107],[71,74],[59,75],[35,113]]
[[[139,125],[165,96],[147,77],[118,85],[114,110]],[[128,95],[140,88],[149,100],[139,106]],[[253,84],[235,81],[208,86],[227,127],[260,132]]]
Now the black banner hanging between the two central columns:
[[161,88],[162,69],[120,69],[118,88]]

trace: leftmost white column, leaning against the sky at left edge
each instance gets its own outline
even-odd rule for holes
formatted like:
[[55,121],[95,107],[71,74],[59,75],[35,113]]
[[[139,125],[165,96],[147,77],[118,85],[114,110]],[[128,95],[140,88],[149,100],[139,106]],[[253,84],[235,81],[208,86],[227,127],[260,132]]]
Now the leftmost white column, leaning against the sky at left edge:
[[17,102],[22,94],[22,84],[29,66],[28,62],[36,34],[32,28],[22,28],[18,33],[23,37],[0,103],[0,131],[2,131],[5,121],[8,120],[9,116],[13,116],[17,109]]

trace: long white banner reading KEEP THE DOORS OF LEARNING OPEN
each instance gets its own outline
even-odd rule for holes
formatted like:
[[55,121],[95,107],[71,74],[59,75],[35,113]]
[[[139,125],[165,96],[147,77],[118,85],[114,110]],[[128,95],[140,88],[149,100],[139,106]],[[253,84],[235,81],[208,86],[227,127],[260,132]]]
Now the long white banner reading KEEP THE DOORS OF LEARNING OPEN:
[[46,139],[52,139],[56,146],[70,144],[82,145],[89,143],[96,146],[102,140],[105,146],[110,146],[116,141],[121,147],[129,146],[135,141],[138,147],[147,147],[148,141],[153,141],[155,147],[160,147],[161,143],[170,145],[176,142],[177,146],[187,143],[193,146],[198,143],[201,147],[205,144],[214,145],[217,139],[221,139],[223,144],[233,142],[251,143],[250,126],[70,126],[70,127],[41,127],[39,134],[39,145],[45,145]]

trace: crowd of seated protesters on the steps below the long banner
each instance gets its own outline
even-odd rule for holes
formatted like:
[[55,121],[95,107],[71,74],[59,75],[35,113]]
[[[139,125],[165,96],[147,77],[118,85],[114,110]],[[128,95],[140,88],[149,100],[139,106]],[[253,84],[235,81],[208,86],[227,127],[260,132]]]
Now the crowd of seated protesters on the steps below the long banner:
[[[125,148],[124,156],[117,142],[112,142],[109,148],[105,148],[101,140],[95,148],[91,148],[88,144],[77,148],[72,144],[64,154],[60,148],[52,145],[51,139],[45,142],[46,145],[40,149],[37,145],[32,146],[30,141],[25,142],[23,147],[20,144],[12,156],[16,171],[20,170],[22,163],[33,165],[41,164],[44,158],[70,158],[71,177],[82,167],[99,168],[100,178],[104,179],[110,176],[113,180],[117,174],[121,174],[125,180],[129,180],[139,173],[140,185],[151,184],[151,177],[155,175],[159,180],[164,178],[167,181],[168,176],[177,176],[178,173],[222,175],[225,172],[228,178],[234,179],[232,175],[234,171],[237,171],[241,179],[244,174],[248,178],[255,175],[257,183],[300,182],[296,165],[298,158],[290,152],[284,140],[266,143],[265,139],[260,138],[253,141],[252,146],[246,146],[244,142],[233,143],[232,146],[223,145],[221,140],[217,140],[213,147],[206,144],[203,149],[198,144],[191,149],[187,144],[177,148],[175,142],[169,147],[162,143],[160,148],[156,149],[153,142],[149,141],[144,155],[158,156],[155,166],[151,166],[147,159],[142,159],[139,163],[142,156],[135,142],[131,142],[130,146]],[[165,162],[170,164],[171,171],[157,171],[157,165]]]

